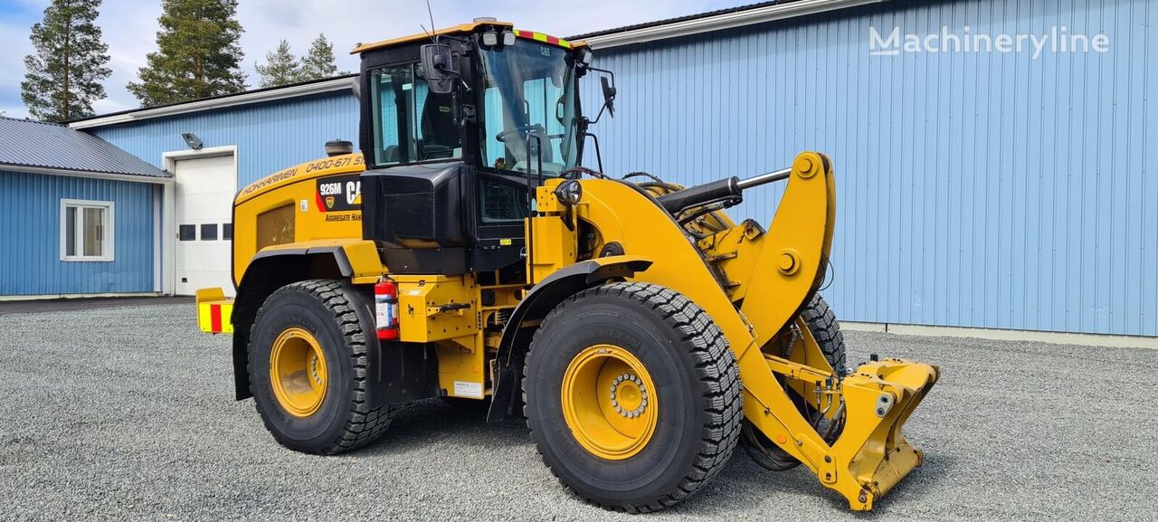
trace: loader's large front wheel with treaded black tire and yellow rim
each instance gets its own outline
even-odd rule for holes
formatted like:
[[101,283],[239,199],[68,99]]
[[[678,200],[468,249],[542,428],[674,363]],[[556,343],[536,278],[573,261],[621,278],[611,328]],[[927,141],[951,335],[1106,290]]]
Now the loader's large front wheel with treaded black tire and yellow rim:
[[[600,376],[589,382],[599,385],[567,391],[585,382],[588,367],[581,365],[592,354],[606,358],[589,366]],[[616,376],[610,390],[625,387],[618,404],[626,421],[600,381],[608,368]],[[640,400],[640,390],[651,395]],[[739,368],[724,333],[683,295],[642,282],[591,288],[556,307],[535,333],[522,391],[532,438],[559,481],[588,502],[629,513],[662,509],[695,493],[731,457],[743,419]],[[576,416],[582,400],[608,400],[615,411],[599,403],[603,410]],[[620,427],[637,421],[651,422],[651,431]],[[600,449],[588,432],[601,426],[587,429],[587,422],[613,426],[609,436],[625,436],[628,449]]]

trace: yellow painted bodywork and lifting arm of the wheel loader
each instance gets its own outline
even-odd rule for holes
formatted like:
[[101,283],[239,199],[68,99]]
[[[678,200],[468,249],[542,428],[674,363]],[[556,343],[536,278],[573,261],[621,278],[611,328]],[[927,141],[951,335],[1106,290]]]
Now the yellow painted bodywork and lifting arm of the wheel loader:
[[[318,181],[357,171],[360,161],[351,159],[349,167],[309,169],[327,162],[288,169],[283,172],[293,174],[279,172],[274,175],[278,181],[263,179],[250,185],[262,186],[242,191],[236,209],[239,279],[249,258],[258,253],[242,247],[257,241],[254,227],[243,223],[256,222],[261,213],[286,205],[295,211],[296,219],[290,226],[294,241],[270,244],[262,251],[342,244],[354,252],[351,257],[362,258],[359,264],[369,271],[380,267],[379,273],[361,274],[360,282],[389,275],[389,270],[379,264],[373,244],[361,240],[357,227],[360,218],[353,216],[357,211],[330,214],[318,207]],[[798,157],[767,233],[752,222],[732,225],[726,218],[709,215],[705,219],[718,220],[727,228],[696,243],[689,242],[684,230],[646,196],[610,179],[580,182],[582,199],[569,227],[566,208],[554,193],[559,183],[550,179],[538,189],[540,215],[527,220],[533,244],[528,286],[577,262],[574,230],[584,221],[600,241],[593,250],[611,242],[624,245],[632,256],[651,262],[633,279],[675,289],[708,311],[735,353],[748,420],[812,469],[822,484],[848,498],[853,509],[871,509],[874,499],[921,464],[923,454],[904,439],[901,426],[937,381],[938,369],[901,360],[877,361],[857,368],[836,385],[834,369],[808,329],[793,324],[801,321],[797,317],[800,303],[821,280],[831,245],[835,177],[826,157],[815,153]],[[302,205],[308,209],[301,211]],[[335,220],[331,215],[351,216]],[[486,387],[486,372],[498,339],[488,337],[479,325],[496,311],[515,307],[526,287],[484,287],[476,284],[474,274],[394,279],[398,284],[401,340],[437,344],[439,385],[449,396],[489,396],[492,390]],[[499,289],[500,302],[481,306],[483,289]],[[232,306],[220,295],[199,293],[203,330],[212,331],[206,326],[212,324],[211,307],[221,304]],[[226,328],[232,330],[228,323]],[[797,358],[782,359],[761,350],[787,332],[794,332],[794,343],[799,344],[799,350],[792,351]],[[777,376],[797,387],[804,397],[820,397],[821,407],[844,404],[848,420],[835,443],[826,443],[804,419]],[[884,413],[878,414],[880,411]]]

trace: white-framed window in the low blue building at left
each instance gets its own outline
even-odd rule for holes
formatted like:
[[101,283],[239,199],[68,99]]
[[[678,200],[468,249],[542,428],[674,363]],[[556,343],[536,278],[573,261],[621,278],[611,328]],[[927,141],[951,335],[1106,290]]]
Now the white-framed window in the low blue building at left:
[[60,259],[112,260],[112,201],[60,200]]

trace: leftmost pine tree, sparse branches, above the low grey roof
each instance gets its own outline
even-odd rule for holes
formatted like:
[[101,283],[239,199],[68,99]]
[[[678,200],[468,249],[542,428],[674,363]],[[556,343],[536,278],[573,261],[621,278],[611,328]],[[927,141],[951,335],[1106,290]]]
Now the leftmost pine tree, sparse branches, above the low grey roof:
[[96,21],[101,0],[53,0],[44,21],[32,24],[35,52],[24,57],[20,98],[36,119],[65,122],[93,115],[93,102],[105,97],[101,81],[112,71],[109,46]]

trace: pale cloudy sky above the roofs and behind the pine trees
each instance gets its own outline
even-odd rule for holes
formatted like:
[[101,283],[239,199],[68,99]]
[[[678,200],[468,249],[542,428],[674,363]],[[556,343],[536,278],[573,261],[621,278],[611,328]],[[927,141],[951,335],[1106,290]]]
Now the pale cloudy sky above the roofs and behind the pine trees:
[[[431,0],[431,6],[439,27],[476,16],[494,16],[514,22],[518,28],[563,37],[752,1],[755,0]],[[0,112],[5,116],[28,113],[20,101],[24,56],[32,51],[28,35],[32,23],[43,19],[47,3],[47,0],[0,0],[0,49],[5,50],[0,52]],[[94,105],[97,113],[138,106],[125,83],[137,79],[145,54],[156,49],[160,14],[160,0],[105,0],[101,6],[97,24],[109,44],[112,75],[104,82],[109,97]],[[347,53],[354,44],[418,32],[419,23],[430,25],[422,0],[241,0],[237,19],[245,30],[241,37],[245,52],[242,68],[249,74],[251,88],[257,84],[254,64],[264,61],[265,53],[281,38],[290,41],[294,53],[300,54],[322,31],[334,42],[338,66],[357,71],[357,58]]]

